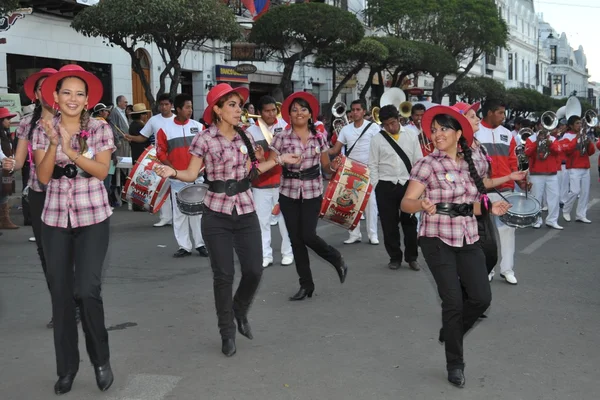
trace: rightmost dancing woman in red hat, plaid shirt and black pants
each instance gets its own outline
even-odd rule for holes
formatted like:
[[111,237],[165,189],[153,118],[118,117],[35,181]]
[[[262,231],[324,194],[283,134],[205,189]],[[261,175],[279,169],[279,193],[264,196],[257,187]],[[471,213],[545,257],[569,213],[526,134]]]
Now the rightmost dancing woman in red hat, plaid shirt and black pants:
[[460,112],[432,107],[422,126],[436,149],[413,167],[401,209],[424,211],[419,244],[442,299],[448,381],[463,387],[463,337],[491,302],[475,216],[502,215],[510,204],[487,198],[473,160],[473,128]]

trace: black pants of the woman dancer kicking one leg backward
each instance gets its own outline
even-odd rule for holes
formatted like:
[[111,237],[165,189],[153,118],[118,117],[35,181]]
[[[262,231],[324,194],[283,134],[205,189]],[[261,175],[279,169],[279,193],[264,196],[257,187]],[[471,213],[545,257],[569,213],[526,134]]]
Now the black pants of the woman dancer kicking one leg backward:
[[340,252],[317,235],[321,200],[321,197],[292,199],[279,195],[279,206],[290,235],[296,272],[300,277],[300,287],[307,290],[315,287],[310,270],[308,247],[333,266],[339,266],[342,263]]

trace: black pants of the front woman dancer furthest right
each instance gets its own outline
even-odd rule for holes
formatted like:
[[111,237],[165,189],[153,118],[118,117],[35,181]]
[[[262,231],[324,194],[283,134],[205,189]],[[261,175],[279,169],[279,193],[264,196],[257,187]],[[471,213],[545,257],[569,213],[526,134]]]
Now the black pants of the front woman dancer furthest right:
[[[477,243],[451,247],[438,238],[419,240],[442,299],[446,367],[464,369],[463,337],[492,300],[485,256]],[[461,285],[468,294],[467,299],[463,297]]]

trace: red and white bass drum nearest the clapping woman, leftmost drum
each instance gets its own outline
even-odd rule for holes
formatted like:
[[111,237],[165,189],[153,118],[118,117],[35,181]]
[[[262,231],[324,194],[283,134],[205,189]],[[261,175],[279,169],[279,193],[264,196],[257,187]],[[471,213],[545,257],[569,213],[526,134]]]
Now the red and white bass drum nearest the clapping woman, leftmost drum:
[[156,213],[171,193],[168,178],[161,178],[154,172],[154,166],[161,164],[156,157],[156,148],[148,146],[131,169],[121,198],[136,204],[144,210]]

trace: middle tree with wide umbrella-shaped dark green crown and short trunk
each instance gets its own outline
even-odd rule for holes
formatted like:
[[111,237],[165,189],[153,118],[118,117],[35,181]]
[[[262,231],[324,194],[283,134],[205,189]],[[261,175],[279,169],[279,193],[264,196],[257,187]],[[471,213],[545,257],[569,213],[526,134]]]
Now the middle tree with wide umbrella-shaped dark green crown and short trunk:
[[276,7],[259,18],[250,41],[270,49],[283,64],[279,88],[284,97],[294,91],[292,74],[297,62],[332,46],[346,48],[364,36],[362,23],[351,12],[320,3]]

